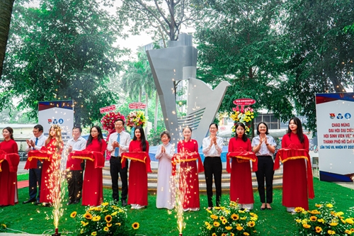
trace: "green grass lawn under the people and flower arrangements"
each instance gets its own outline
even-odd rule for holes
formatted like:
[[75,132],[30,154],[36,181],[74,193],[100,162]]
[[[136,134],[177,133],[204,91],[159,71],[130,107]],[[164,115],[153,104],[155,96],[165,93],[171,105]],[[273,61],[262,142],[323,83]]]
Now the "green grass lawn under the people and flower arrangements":
[[[336,201],[336,209],[346,211],[354,206],[354,191],[347,189],[337,184],[322,182],[314,179],[315,198],[309,201],[310,209],[314,209],[315,203],[321,201],[331,201],[332,198]],[[0,209],[0,222],[6,223],[8,227],[22,232],[32,234],[42,234],[46,230],[52,230],[52,220],[48,218],[51,215],[52,208],[42,206],[34,206],[32,204],[22,204],[22,201],[28,198],[28,188],[18,191],[20,203],[16,206],[7,206]],[[260,235],[296,235],[293,216],[286,212],[285,207],[281,205],[282,191],[276,189],[274,191],[273,210],[259,210],[258,193],[255,193],[255,209],[253,210],[263,220],[263,225],[258,227]],[[104,189],[104,198],[110,201],[111,190]],[[228,200],[229,196],[223,195],[222,201]],[[156,196],[149,196],[149,206],[142,210],[129,210],[128,215],[130,221],[139,222],[139,235],[178,235],[176,228],[176,213],[174,211],[156,209]],[[200,226],[203,225],[203,220],[207,217],[205,208],[207,207],[207,198],[205,195],[200,196],[201,210],[198,212],[185,213],[186,227],[183,230],[183,235],[198,235]],[[59,223],[59,231],[74,232],[75,221],[69,215],[76,210],[79,214],[84,213],[84,206],[70,205],[64,206],[64,216]],[[8,231],[11,232],[11,231]],[[46,232],[52,235],[53,232]],[[63,235],[63,234],[62,234]],[[66,233],[64,235],[69,235]],[[72,235],[75,235],[74,233]]]

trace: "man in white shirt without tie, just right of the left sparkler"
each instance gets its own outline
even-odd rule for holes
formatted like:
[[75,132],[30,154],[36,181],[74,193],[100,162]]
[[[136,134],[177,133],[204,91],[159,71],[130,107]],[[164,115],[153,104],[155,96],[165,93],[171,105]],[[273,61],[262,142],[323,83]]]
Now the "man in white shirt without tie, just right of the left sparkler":
[[81,162],[81,159],[72,159],[69,157],[69,153],[72,151],[81,151],[86,148],[86,140],[81,137],[82,129],[79,126],[75,126],[72,129],[72,138],[67,141],[65,152],[67,152],[67,189],[69,193],[70,204],[77,204],[81,199],[82,192],[82,180],[85,168],[85,162]]

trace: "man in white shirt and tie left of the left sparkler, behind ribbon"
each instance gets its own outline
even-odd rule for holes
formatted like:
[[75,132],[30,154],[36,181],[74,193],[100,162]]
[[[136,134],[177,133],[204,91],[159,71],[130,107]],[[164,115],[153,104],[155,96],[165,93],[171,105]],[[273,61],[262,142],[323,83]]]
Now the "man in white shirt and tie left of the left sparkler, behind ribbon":
[[[40,150],[40,148],[45,145],[45,140],[47,140],[47,137],[43,135],[42,125],[35,125],[35,127],[33,127],[33,135],[34,136],[31,137],[30,140],[26,140],[28,147],[26,148],[25,152],[29,152],[30,150]],[[38,160],[37,168],[30,169],[30,173],[29,173],[30,198],[27,201],[23,201],[23,204],[32,203],[32,202],[35,202],[35,204],[37,205],[40,204],[41,177],[42,177],[42,162]],[[38,186],[38,190],[37,190],[37,186]]]

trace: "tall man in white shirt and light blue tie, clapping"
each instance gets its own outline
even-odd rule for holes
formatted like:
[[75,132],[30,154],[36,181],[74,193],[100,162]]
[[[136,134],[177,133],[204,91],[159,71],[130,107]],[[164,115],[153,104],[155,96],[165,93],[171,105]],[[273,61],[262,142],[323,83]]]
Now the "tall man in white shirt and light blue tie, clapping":
[[119,201],[119,191],[118,191],[118,173],[120,174],[120,180],[122,181],[122,196],[120,200],[122,201],[122,206],[127,206],[127,194],[128,194],[128,182],[127,182],[127,172],[128,172],[128,161],[125,161],[125,167],[122,168],[120,163],[122,152],[128,152],[130,141],[130,134],[123,131],[124,120],[115,120],[115,133],[110,135],[108,140],[107,150],[110,152],[110,177],[112,179],[112,191],[113,199]]

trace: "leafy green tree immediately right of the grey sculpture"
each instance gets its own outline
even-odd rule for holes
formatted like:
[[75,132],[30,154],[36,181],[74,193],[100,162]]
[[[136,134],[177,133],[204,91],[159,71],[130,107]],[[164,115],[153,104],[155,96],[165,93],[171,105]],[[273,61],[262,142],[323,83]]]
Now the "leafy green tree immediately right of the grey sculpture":
[[232,111],[234,99],[255,99],[253,108],[267,108],[282,119],[292,115],[285,80],[282,35],[276,26],[277,1],[210,1],[207,21],[197,21],[198,78],[217,86],[227,80],[220,111]]

